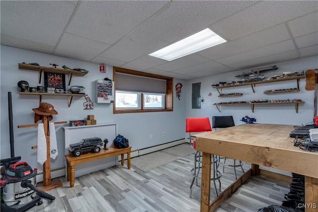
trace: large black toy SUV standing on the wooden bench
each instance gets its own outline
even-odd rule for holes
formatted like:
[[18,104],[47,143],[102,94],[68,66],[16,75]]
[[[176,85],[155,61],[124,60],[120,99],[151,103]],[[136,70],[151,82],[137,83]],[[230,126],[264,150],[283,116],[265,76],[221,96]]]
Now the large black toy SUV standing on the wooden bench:
[[99,152],[103,146],[103,141],[98,137],[82,139],[78,143],[70,144],[69,150],[73,153],[75,157],[81,155],[83,151],[93,151],[95,153]]

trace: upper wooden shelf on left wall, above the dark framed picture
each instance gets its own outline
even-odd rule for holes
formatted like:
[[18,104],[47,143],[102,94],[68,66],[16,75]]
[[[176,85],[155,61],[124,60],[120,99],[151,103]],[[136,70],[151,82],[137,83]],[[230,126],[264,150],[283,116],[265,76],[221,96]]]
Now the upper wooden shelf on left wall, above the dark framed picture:
[[84,76],[87,74],[87,72],[82,72],[82,71],[57,69],[57,68],[50,68],[50,67],[43,67],[43,66],[34,66],[34,65],[30,65],[30,64],[19,64],[19,69],[39,71],[39,83],[41,83],[42,72],[67,74],[68,75],[68,85],[71,84],[72,75]]

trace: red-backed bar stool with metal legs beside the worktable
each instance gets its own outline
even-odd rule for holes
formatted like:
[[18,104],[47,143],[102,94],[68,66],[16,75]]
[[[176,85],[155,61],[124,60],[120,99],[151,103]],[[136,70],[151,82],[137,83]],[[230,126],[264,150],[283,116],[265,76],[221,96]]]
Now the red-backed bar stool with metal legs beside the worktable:
[[[186,118],[185,119],[185,131],[189,133],[189,140],[191,147],[195,148],[195,141],[191,142],[191,133],[202,133],[212,131],[209,117],[199,117],[199,118]],[[194,181],[196,180],[196,185],[198,185],[198,178],[201,179],[200,169],[202,168],[202,153],[200,151],[195,151],[194,153],[194,167],[191,169],[191,174],[193,179],[190,185],[189,197],[191,198],[191,189]],[[211,180],[213,180],[216,196],[218,196],[218,191],[215,181],[219,181],[219,190],[221,191],[221,181],[220,178],[222,174],[217,170],[217,159],[212,155],[212,174]]]

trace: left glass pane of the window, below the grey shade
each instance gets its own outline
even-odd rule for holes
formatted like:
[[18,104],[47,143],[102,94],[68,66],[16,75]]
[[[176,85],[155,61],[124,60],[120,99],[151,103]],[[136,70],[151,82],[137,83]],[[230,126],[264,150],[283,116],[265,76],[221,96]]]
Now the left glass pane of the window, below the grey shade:
[[140,108],[140,94],[116,91],[116,108]]

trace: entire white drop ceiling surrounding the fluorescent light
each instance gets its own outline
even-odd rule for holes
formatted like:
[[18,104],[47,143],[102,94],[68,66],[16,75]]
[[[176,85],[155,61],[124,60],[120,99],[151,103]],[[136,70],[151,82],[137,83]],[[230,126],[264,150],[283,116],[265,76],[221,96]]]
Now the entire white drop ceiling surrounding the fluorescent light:
[[[317,0],[1,0],[0,9],[2,45],[185,80],[318,55]],[[170,62],[149,56],[207,27],[228,42]]]

